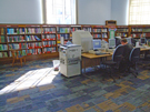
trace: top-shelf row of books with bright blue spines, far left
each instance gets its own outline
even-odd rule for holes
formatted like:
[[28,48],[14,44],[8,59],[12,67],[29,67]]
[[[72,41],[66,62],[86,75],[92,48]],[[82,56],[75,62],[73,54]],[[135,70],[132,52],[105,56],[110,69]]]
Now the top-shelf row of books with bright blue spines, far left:
[[7,34],[24,34],[24,28],[7,28]]

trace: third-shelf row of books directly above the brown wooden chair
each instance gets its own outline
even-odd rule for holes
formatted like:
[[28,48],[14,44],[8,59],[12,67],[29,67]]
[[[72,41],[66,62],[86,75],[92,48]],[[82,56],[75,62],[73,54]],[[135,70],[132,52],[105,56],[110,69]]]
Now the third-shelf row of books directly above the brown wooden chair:
[[9,49],[10,50],[27,49],[27,44],[26,43],[11,43],[9,44]]

